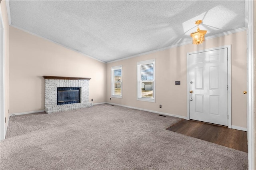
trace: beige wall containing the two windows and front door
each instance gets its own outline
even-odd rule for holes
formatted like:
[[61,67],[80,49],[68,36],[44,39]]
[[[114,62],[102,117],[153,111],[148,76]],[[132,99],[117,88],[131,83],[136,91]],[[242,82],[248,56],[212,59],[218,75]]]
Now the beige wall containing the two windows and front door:
[[[106,101],[129,107],[187,116],[187,53],[219,47],[231,46],[232,63],[232,125],[247,128],[246,121],[246,31],[206,40],[202,45],[184,45],[107,64]],[[138,61],[156,59],[156,102],[137,101],[136,64]],[[111,97],[111,70],[122,65],[122,99]],[[181,85],[174,85],[180,80]],[[159,105],[162,105],[162,109]]]

